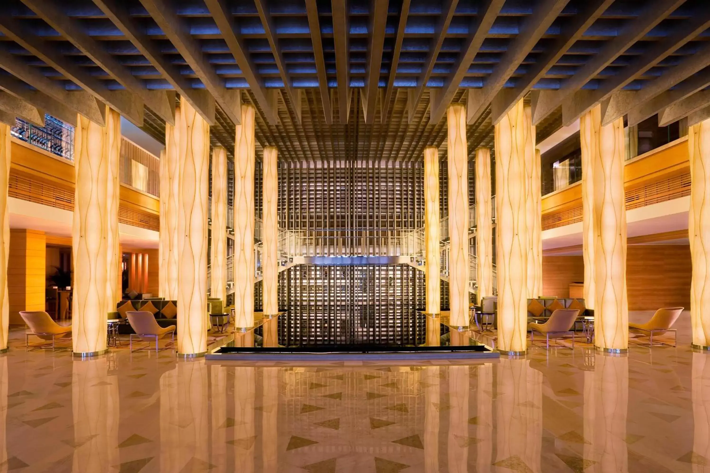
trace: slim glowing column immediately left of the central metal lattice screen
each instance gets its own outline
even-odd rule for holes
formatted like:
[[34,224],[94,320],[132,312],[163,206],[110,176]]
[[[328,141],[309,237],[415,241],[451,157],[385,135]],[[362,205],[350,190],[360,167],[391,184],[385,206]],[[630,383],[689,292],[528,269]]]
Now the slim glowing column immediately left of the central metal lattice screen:
[[278,151],[264,148],[263,155],[263,313],[278,314]]

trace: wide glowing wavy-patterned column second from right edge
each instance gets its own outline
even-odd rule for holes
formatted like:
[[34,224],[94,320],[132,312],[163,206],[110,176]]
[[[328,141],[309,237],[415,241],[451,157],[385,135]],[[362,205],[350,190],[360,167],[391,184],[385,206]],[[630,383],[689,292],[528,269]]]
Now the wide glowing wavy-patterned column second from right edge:
[[[591,120],[601,123],[601,106],[592,109]],[[628,349],[624,156],[623,118],[599,126],[593,172],[594,343],[603,350]]]

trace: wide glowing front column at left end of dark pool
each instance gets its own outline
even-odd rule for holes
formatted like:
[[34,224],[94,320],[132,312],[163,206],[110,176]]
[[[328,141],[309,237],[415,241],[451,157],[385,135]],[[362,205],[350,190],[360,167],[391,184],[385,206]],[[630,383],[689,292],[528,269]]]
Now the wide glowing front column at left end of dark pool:
[[178,354],[207,351],[209,125],[180,98],[178,126]]

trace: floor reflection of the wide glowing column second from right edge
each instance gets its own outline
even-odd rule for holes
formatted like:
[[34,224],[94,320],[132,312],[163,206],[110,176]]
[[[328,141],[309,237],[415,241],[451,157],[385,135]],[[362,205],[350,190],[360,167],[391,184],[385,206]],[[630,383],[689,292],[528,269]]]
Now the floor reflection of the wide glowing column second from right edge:
[[[598,353],[594,379],[584,378],[584,433],[591,447],[584,460],[594,462],[587,472],[628,472],[626,416],[628,411],[628,357]],[[591,388],[587,384],[592,382]],[[589,394],[588,394],[589,393]],[[590,404],[590,406],[587,406]],[[586,438],[591,426],[591,439]],[[591,452],[587,457],[586,452]]]

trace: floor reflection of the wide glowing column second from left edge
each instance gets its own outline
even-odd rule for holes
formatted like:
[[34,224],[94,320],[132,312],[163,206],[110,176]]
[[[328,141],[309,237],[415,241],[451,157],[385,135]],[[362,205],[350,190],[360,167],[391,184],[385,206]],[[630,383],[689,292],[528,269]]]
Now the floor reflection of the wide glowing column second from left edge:
[[72,362],[72,413],[72,472],[111,471],[119,464],[119,382],[107,357]]

